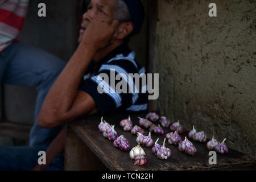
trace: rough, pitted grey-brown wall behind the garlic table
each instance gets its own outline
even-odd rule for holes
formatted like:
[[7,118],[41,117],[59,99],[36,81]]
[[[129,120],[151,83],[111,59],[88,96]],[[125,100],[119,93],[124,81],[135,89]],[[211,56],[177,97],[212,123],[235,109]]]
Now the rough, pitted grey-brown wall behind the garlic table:
[[[217,5],[209,17],[208,5]],[[158,1],[161,114],[256,158],[256,1]]]

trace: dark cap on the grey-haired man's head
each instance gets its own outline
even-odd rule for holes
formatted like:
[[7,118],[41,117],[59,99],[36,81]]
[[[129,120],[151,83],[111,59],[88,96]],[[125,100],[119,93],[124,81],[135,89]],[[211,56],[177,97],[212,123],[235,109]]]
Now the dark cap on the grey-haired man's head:
[[140,0],[123,0],[130,12],[131,22],[133,22],[133,32],[131,35],[138,34],[141,31],[145,12]]

